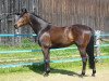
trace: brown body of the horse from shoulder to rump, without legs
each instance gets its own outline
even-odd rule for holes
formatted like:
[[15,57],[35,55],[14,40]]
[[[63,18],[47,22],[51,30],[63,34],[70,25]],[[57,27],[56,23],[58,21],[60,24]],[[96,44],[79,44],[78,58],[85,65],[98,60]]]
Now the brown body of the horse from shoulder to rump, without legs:
[[[51,48],[64,48],[90,37],[92,30],[85,25],[68,27],[51,26],[41,35],[41,42]],[[83,42],[82,42],[83,43]]]

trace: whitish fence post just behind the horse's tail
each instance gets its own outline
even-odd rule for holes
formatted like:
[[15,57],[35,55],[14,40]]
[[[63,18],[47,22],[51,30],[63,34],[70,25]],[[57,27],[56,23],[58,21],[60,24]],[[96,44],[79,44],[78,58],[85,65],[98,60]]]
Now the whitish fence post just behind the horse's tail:
[[[96,45],[96,57],[100,56],[100,30],[96,30],[95,31],[96,35],[96,41],[95,41],[95,45]],[[96,60],[99,60],[100,58],[96,58]]]

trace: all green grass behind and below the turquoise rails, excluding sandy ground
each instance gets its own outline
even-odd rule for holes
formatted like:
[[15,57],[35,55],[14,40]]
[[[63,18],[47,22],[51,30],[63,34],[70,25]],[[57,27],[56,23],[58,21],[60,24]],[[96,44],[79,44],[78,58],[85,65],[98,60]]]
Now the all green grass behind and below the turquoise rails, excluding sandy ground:
[[[75,48],[75,45],[72,45]],[[15,45],[15,46],[5,46],[1,45],[0,51],[12,51],[12,50],[39,50],[39,45],[36,43],[32,43],[27,40],[23,41],[23,44]],[[109,46],[101,48],[101,55],[109,55]],[[50,58],[53,59],[63,59],[63,58],[72,58],[72,57],[78,57],[80,53],[78,50],[56,50],[50,51]],[[35,59],[28,59],[28,60],[22,60],[24,58],[35,58]],[[10,60],[8,59],[21,59],[21,60]],[[41,52],[33,52],[33,53],[13,53],[13,54],[0,54],[0,64],[16,64],[16,63],[28,63],[28,62],[39,62],[43,60],[44,56]],[[109,67],[109,59],[104,59],[102,63],[97,64],[97,67]],[[60,63],[60,64],[53,64],[51,63],[51,70],[53,69],[61,69],[61,70],[70,70],[74,71],[82,68],[81,62],[74,62],[74,63]],[[60,70],[60,71],[61,71]],[[15,67],[15,68],[0,68],[0,73],[10,73],[10,72],[25,72],[25,71],[35,71],[43,73],[44,71],[44,65],[38,66],[22,66],[22,67]]]

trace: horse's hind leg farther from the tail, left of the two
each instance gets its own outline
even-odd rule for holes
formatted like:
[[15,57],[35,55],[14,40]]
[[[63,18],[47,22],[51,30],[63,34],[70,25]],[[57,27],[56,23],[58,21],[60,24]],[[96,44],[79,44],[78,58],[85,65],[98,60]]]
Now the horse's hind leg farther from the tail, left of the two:
[[87,63],[86,49],[85,48],[78,48],[78,51],[80,51],[82,62],[83,62],[83,69],[82,69],[81,76],[84,76],[85,71],[86,71],[86,63]]

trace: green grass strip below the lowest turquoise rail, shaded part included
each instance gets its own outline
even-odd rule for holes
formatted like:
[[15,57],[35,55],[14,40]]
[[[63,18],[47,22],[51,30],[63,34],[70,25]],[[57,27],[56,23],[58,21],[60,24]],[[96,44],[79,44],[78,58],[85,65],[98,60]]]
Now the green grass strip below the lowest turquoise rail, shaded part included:
[[[102,59],[100,63],[97,63],[97,69],[102,69],[109,67],[109,59]],[[88,69],[88,65],[87,65]],[[51,63],[51,72],[66,72],[66,71],[81,71],[82,70],[82,62],[73,62],[73,63]],[[11,72],[29,72],[35,71],[38,73],[44,72],[44,65],[33,65],[33,66],[22,66],[15,68],[1,68],[0,73],[11,73]]]

